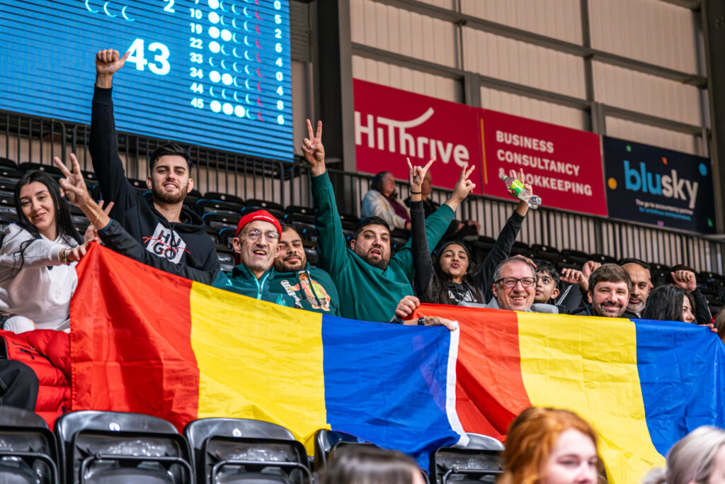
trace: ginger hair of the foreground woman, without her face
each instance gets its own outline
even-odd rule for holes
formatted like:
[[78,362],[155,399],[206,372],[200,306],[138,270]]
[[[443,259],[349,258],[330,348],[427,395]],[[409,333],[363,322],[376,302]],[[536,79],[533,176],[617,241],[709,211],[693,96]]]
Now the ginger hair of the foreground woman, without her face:
[[569,429],[579,430],[597,446],[597,434],[592,426],[572,411],[540,407],[522,411],[508,429],[502,454],[504,472],[497,483],[541,483],[556,440]]

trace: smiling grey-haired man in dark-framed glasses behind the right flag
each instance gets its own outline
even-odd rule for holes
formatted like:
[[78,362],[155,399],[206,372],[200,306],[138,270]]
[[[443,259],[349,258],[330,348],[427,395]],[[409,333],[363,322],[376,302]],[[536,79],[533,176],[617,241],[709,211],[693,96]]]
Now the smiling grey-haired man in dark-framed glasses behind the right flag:
[[537,273],[534,266],[524,258],[510,257],[500,263],[494,272],[492,286],[494,298],[486,307],[509,311],[558,313],[555,305],[534,303],[536,285]]

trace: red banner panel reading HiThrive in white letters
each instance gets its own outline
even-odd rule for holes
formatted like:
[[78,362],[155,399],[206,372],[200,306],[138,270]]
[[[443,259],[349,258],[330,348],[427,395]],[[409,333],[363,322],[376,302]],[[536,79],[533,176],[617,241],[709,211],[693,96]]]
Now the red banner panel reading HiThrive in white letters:
[[[390,171],[407,180],[405,157],[425,164],[431,157],[434,186],[452,189],[464,165],[481,194],[481,134],[478,110],[355,79],[355,158],[357,171]],[[501,184],[501,182],[499,181]]]

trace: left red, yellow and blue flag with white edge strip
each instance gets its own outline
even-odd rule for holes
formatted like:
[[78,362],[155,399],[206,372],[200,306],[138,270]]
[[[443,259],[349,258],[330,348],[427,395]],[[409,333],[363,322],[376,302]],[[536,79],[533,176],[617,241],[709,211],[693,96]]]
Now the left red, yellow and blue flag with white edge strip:
[[[71,307],[72,409],[332,428],[427,467],[461,439],[457,332],[286,308],[92,247]],[[465,435],[465,434],[463,434]],[[465,437],[463,438],[466,439]]]

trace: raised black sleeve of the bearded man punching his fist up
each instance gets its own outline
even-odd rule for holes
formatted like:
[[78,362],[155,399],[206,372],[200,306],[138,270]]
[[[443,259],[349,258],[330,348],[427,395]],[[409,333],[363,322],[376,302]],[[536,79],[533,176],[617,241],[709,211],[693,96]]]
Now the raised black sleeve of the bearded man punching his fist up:
[[112,89],[95,87],[91,107],[91,140],[88,144],[88,152],[91,153],[93,168],[104,200],[106,203],[115,202],[113,214],[117,210],[127,210],[130,206],[136,205],[138,194],[128,183],[123,171],[123,163],[118,155],[111,94]]

